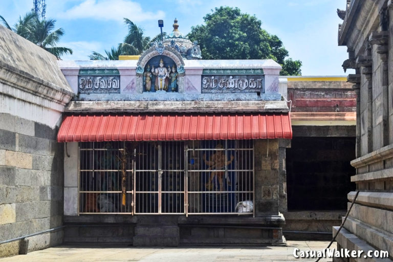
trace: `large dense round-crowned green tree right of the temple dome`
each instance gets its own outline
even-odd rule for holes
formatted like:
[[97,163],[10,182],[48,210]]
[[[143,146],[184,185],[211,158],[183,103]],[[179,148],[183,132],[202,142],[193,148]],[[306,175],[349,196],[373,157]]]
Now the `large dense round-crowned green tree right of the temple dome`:
[[255,15],[238,8],[220,7],[204,17],[187,35],[198,40],[204,59],[273,59],[282,65],[281,75],[301,75],[301,61],[292,60],[282,41],[261,28]]

